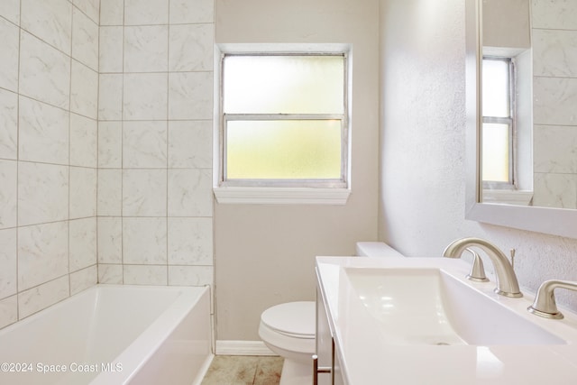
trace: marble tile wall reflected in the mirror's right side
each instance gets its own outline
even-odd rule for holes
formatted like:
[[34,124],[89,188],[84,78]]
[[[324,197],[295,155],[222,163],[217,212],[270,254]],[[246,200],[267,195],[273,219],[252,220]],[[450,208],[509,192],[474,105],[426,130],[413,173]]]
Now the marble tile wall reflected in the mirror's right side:
[[532,6],[534,205],[577,208],[577,1]]

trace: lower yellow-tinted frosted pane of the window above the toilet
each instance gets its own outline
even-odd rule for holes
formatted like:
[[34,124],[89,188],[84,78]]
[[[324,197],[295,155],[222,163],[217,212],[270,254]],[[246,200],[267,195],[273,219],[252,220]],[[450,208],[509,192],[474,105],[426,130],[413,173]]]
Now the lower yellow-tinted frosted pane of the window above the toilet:
[[341,179],[341,122],[230,121],[226,179]]

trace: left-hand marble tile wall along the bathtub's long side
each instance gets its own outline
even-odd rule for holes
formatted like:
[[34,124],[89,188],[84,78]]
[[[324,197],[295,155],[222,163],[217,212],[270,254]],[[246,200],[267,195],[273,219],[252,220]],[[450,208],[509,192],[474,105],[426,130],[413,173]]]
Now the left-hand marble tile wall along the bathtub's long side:
[[94,285],[99,0],[0,2],[0,327]]

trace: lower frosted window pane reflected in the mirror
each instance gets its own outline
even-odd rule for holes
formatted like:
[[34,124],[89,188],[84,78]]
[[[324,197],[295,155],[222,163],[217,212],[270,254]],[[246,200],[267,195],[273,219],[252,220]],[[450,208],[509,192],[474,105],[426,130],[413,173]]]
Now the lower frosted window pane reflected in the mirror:
[[508,124],[483,124],[482,175],[483,180],[509,181],[509,127]]

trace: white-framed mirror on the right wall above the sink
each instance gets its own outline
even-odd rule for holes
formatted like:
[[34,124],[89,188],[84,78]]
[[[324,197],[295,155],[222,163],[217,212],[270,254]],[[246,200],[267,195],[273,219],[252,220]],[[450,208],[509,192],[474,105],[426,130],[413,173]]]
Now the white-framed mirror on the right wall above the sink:
[[[483,23],[483,7],[490,3],[497,3],[498,8],[494,12],[488,8]],[[493,225],[577,238],[577,210],[574,209],[577,208],[577,154],[572,154],[572,150],[577,147],[577,108],[574,107],[577,105],[577,55],[573,53],[577,51],[577,0],[507,0],[513,8],[527,5],[526,15],[523,16],[523,12],[517,8],[516,17],[521,21],[520,24],[526,24],[525,30],[520,30],[520,35],[528,37],[529,44],[524,46],[516,43],[513,47],[510,47],[509,42],[502,43],[497,33],[499,28],[492,24],[487,26],[491,12],[503,17],[505,3],[503,0],[466,0],[465,217]],[[510,21],[512,16],[504,17]],[[563,27],[552,26],[553,21],[562,21]],[[482,25],[494,30],[491,33],[495,32],[500,40],[489,37],[483,32]],[[483,46],[483,37],[489,41],[490,45],[485,46],[487,48]],[[531,40],[538,41],[540,45],[537,47],[530,44]],[[565,42],[572,42],[573,48],[563,48]],[[503,50],[503,47],[507,50]],[[521,133],[517,131],[516,136],[511,138],[511,142],[518,146],[514,160],[517,163],[509,169],[516,175],[516,179],[513,179],[517,183],[516,190],[502,188],[502,184],[498,186],[499,183],[493,180],[482,181],[485,164],[483,153],[485,159],[490,157],[487,143],[483,149],[483,139],[486,142],[493,141],[487,139],[487,134],[483,138],[483,121],[499,123],[483,119],[482,57],[499,58],[499,55],[502,57],[505,53],[515,54],[517,64],[518,60],[528,62],[525,66],[521,65],[521,69],[517,68],[517,76],[525,74],[528,78],[521,80],[517,84],[517,91],[510,94],[515,98],[517,109],[520,107],[522,110],[517,111],[522,121],[517,123],[517,128],[520,130],[520,124],[525,130]],[[518,55],[525,56],[519,59]],[[531,58],[527,60],[527,57]],[[544,57],[546,60],[541,60]],[[574,68],[571,69],[567,64],[569,61],[573,61]],[[522,176],[526,179],[519,180]],[[556,188],[557,185],[561,185],[561,188]],[[515,194],[508,192],[523,192],[527,197],[519,200],[517,197],[512,198]],[[568,202],[573,202],[573,205]]]

